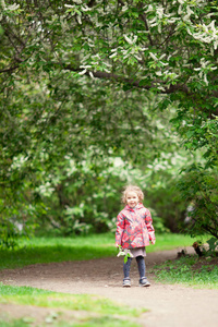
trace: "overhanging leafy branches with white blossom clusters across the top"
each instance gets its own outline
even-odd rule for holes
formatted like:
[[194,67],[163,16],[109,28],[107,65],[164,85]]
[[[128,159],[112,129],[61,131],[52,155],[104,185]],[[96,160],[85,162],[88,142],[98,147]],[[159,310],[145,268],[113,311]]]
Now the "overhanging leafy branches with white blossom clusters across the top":
[[[1,1],[1,84],[11,74],[13,81],[39,72],[51,78],[60,71],[74,81],[107,80],[161,94],[160,109],[177,104],[180,119],[189,112],[199,130],[218,112],[216,4]],[[202,134],[194,129],[187,138]]]

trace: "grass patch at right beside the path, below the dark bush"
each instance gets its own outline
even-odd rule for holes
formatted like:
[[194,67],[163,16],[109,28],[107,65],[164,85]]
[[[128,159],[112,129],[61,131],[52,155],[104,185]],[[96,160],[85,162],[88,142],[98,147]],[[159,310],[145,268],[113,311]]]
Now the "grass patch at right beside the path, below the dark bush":
[[156,279],[164,283],[218,289],[218,257],[186,256],[154,267]]

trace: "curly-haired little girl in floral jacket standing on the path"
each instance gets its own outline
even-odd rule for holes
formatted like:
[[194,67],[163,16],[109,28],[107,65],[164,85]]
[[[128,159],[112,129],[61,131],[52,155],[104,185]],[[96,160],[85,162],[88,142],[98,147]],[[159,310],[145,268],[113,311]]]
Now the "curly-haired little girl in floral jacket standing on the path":
[[[145,246],[155,244],[155,230],[150,213],[142,204],[144,194],[137,186],[126,186],[122,202],[125,204],[124,209],[120,211],[117,220],[116,245],[117,247],[129,249],[131,256],[136,258],[140,286],[148,287],[149,281],[145,277]],[[130,267],[132,257],[123,264],[123,287],[131,287]]]

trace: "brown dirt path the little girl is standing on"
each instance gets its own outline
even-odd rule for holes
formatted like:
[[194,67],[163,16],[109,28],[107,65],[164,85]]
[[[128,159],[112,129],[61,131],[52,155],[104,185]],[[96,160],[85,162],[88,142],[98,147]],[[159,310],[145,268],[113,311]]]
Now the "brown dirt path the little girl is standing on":
[[[192,249],[187,249],[192,253]],[[123,289],[123,258],[102,258],[88,262],[64,262],[32,265],[0,271],[5,284],[32,286],[73,294],[99,294],[134,307],[146,307],[145,327],[198,327],[218,325],[218,291],[161,284],[153,279],[149,269],[166,259],[177,257],[177,250],[150,253],[146,257],[149,288],[138,287],[135,261],[132,263],[132,287]]]

